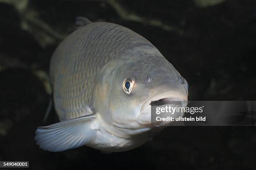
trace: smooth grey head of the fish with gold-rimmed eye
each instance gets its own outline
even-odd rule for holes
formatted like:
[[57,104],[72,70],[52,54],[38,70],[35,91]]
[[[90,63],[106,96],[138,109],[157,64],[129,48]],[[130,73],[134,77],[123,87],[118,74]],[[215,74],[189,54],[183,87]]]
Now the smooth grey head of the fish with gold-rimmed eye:
[[118,63],[108,80],[108,102],[101,102],[106,106],[105,120],[129,133],[152,127],[154,101],[183,101],[176,104],[187,105],[188,83],[163,56]]

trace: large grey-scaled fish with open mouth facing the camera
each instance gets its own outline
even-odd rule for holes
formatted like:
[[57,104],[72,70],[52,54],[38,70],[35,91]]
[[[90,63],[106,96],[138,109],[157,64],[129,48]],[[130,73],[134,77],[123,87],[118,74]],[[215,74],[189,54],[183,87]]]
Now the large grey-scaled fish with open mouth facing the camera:
[[50,82],[59,121],[38,127],[37,145],[61,152],[137,148],[166,124],[151,123],[154,101],[187,101],[188,83],[146,38],[131,29],[78,17],[54,51]]

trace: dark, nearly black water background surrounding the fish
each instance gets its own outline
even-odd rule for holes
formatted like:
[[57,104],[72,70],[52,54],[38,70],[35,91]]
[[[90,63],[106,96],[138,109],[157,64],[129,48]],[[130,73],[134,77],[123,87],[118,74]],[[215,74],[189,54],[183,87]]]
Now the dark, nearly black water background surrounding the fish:
[[[211,0],[210,0],[211,1]],[[146,37],[189,82],[189,100],[256,100],[255,0],[0,0],[0,160],[31,169],[255,170],[255,127],[168,127],[124,153],[50,153],[34,141],[50,99],[54,49],[74,18]],[[213,3],[215,2],[215,3]]]

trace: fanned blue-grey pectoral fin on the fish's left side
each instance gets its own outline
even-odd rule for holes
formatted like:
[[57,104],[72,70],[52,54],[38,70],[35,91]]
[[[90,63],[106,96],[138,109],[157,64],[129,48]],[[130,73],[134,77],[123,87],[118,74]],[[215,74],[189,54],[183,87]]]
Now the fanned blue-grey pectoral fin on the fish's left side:
[[36,143],[43,150],[60,152],[78,148],[95,138],[97,130],[90,128],[95,115],[77,117],[36,129]]

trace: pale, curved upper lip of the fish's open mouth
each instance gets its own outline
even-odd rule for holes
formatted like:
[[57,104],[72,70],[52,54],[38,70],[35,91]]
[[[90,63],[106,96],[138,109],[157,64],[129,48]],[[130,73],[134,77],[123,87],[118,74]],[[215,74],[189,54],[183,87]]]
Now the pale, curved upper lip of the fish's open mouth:
[[164,98],[168,98],[172,101],[187,101],[187,95],[182,93],[182,91],[180,91],[179,89],[164,90],[162,92],[159,92],[155,95],[148,97],[148,99],[141,105],[140,113],[143,114],[143,112],[151,106],[151,101],[161,100]]

